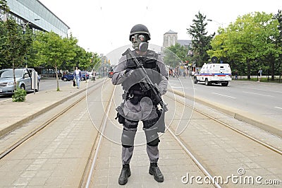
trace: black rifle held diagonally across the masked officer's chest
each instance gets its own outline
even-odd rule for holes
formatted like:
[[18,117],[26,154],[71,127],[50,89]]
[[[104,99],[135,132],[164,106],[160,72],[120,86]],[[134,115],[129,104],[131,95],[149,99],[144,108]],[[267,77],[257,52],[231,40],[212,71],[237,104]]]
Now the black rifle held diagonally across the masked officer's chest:
[[147,75],[144,66],[142,66],[142,64],[139,63],[139,61],[136,59],[135,55],[130,50],[130,48],[126,49],[123,55],[126,55],[126,57],[129,59],[133,59],[136,68],[140,69],[140,74],[142,74],[142,77],[145,79],[145,83],[141,85],[142,88],[144,90],[151,90],[154,95],[154,100],[156,101],[156,103],[161,105],[161,108],[164,109],[164,112],[167,112],[168,111],[167,104],[162,100],[159,89],[156,86],[154,86],[154,83],[152,83],[151,79]]

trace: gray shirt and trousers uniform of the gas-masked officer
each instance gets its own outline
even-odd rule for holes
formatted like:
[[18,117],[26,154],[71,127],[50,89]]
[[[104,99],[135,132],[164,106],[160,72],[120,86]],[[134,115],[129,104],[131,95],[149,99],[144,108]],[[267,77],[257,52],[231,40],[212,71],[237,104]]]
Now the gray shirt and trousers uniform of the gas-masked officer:
[[[152,54],[152,51],[149,51]],[[140,55],[135,56],[142,58]],[[147,57],[146,55],[144,57]],[[150,57],[150,59],[154,59]],[[157,56],[157,59],[154,61],[157,64],[158,71],[153,69],[146,69],[147,74],[150,75],[152,82],[159,88],[161,95],[166,93],[168,85],[168,74],[166,67],[162,59]],[[128,69],[127,64],[128,59],[125,56],[121,57],[118,61],[118,65],[114,68],[114,74],[112,76],[112,83],[114,85],[122,84],[123,89],[125,90],[126,97],[123,102],[123,115],[125,121],[123,122],[123,134],[121,136],[121,142],[123,145],[122,148],[122,162],[124,164],[129,164],[130,159],[133,155],[134,149],[134,139],[137,131],[137,124],[141,120],[143,122],[143,130],[145,131],[147,139],[147,154],[149,156],[150,163],[157,163],[159,159],[159,136],[157,134],[157,129],[154,127],[154,124],[157,123],[159,119],[159,114],[157,110],[157,105],[154,104],[152,98],[149,95],[142,96],[139,100],[133,102],[128,100],[128,95],[134,98],[135,93],[130,93],[130,86],[133,86],[135,83],[142,82],[142,78],[138,78],[138,69],[134,69],[132,74],[125,74],[126,69]],[[149,61],[147,61],[149,62]],[[147,64],[144,62],[144,66]],[[151,61],[152,62],[152,61]],[[157,79],[155,79],[157,78]],[[127,87],[126,87],[127,86]]]

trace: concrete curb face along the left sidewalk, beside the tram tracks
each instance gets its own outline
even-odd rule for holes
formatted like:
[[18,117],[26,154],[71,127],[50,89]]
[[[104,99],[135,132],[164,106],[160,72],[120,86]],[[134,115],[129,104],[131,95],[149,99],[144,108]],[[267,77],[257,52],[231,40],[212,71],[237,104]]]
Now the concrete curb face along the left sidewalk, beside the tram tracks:
[[[102,79],[102,81],[104,81],[104,80]],[[97,83],[100,83],[102,81],[99,81]],[[88,84],[87,84],[86,88],[83,88],[82,90],[77,90],[72,95],[69,95],[66,98],[63,98],[63,99],[61,99],[61,100],[59,100],[57,102],[54,102],[52,105],[44,107],[42,110],[39,110],[38,112],[35,112],[34,114],[31,114],[31,115],[21,119],[20,121],[11,124],[10,126],[0,130],[0,137],[4,136],[5,134],[10,133],[11,131],[13,131],[15,129],[17,129],[18,127],[22,126],[26,122],[29,122],[30,120],[34,119],[35,117],[39,116],[40,114],[44,114],[45,112],[48,112],[49,110],[51,110],[52,108],[56,107],[57,105],[61,105],[63,102],[66,102],[66,100],[69,100],[69,99],[75,97],[75,95],[78,95],[78,94],[80,94],[82,92],[85,92],[87,90],[87,88],[92,88],[94,86],[96,86],[96,84],[93,85],[93,86],[90,86],[90,87],[88,87]]]

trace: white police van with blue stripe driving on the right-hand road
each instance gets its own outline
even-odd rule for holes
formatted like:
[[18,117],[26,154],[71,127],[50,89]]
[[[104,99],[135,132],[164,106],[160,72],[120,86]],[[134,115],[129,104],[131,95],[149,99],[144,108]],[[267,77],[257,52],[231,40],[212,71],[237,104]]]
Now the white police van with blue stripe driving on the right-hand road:
[[212,83],[228,86],[228,82],[231,80],[229,64],[204,64],[200,72],[194,75],[194,83],[204,82],[206,86]]

